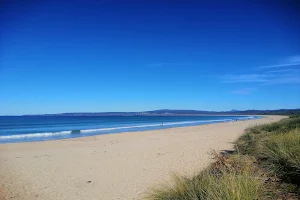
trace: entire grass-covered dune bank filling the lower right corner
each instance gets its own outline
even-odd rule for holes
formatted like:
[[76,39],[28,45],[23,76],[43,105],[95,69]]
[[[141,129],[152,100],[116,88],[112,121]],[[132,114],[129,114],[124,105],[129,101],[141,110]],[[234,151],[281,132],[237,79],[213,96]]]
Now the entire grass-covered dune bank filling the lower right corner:
[[249,128],[234,152],[214,153],[215,163],[195,177],[173,176],[149,200],[253,200],[300,198],[300,115]]

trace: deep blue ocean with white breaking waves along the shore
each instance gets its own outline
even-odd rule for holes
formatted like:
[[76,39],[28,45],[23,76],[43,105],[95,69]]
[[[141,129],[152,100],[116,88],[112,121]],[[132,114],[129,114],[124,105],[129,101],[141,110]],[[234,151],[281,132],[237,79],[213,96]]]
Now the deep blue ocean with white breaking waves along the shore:
[[256,116],[0,116],[0,143],[76,138],[250,120]]

